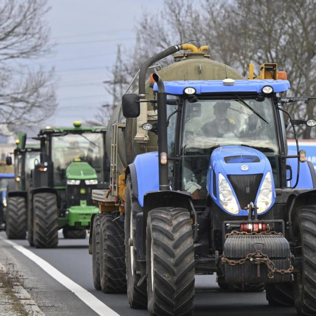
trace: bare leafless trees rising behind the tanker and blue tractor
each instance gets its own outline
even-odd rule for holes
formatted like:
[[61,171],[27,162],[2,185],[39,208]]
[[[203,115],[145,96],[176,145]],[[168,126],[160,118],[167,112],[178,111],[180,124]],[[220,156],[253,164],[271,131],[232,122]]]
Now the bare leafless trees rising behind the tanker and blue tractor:
[[[160,12],[144,12],[136,27],[135,51],[124,63],[132,78],[144,58],[180,42],[209,45],[212,59],[248,74],[265,62],[278,63],[291,82],[288,95],[316,95],[316,0],[165,0]],[[167,58],[163,63],[170,63]],[[130,71],[128,71],[130,70]],[[313,118],[315,103],[291,103],[297,118]],[[300,125],[298,135],[316,132]],[[289,132],[291,133],[290,126]]]

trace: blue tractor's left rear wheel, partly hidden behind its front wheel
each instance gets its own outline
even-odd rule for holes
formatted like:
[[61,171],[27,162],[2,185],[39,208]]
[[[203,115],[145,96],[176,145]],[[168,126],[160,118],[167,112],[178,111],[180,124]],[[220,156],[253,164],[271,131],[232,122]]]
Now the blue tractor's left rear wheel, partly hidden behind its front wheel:
[[[136,260],[136,214],[142,212],[142,207],[133,195],[131,175],[126,179],[125,191],[125,259],[127,297],[132,308],[147,308],[147,284],[140,271],[146,273],[146,263]],[[131,241],[132,245],[131,245]],[[143,267],[141,267],[143,264]],[[143,269],[141,269],[143,268]],[[145,274],[146,275],[146,274]],[[139,284],[141,283],[141,284]],[[139,284],[139,285],[138,285]]]

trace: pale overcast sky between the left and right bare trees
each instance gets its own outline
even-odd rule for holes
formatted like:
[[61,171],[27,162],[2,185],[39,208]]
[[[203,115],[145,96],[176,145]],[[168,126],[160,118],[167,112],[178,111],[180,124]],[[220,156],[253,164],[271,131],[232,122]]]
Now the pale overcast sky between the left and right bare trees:
[[[98,106],[111,102],[102,81],[116,58],[117,45],[131,47],[135,23],[146,10],[157,10],[163,0],[49,0],[47,21],[55,54],[40,62],[55,66],[58,108],[42,125],[71,125],[93,119]],[[37,63],[38,63],[37,62]]]

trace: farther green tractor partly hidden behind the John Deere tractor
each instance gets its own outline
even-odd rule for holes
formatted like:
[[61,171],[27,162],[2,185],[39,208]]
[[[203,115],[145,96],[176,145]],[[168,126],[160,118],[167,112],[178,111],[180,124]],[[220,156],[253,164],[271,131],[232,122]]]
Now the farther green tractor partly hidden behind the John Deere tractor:
[[[27,191],[30,185],[31,170],[40,158],[40,146],[26,145],[26,133],[20,133],[15,141],[14,185],[9,185],[6,207],[6,234],[8,239],[25,239],[27,232]],[[6,163],[12,165],[11,156]]]

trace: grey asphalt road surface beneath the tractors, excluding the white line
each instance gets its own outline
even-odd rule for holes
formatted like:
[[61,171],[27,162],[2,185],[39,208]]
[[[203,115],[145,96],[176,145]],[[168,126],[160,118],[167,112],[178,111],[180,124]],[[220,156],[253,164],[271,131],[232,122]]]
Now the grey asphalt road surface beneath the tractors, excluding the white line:
[[[6,238],[0,232],[0,238]],[[61,237],[61,235],[60,235]],[[121,316],[148,316],[147,310],[131,309],[126,295],[104,294],[96,291],[92,283],[92,256],[88,254],[88,238],[65,240],[60,238],[55,249],[29,247],[27,240],[14,240],[86,289]],[[13,263],[24,276],[24,286],[46,316],[97,316],[90,307],[64,285],[57,282],[38,264],[0,239],[0,262]],[[216,316],[267,316],[296,315],[294,307],[273,308],[268,305],[265,293],[230,293],[221,290],[215,276],[196,276],[194,315]]]

